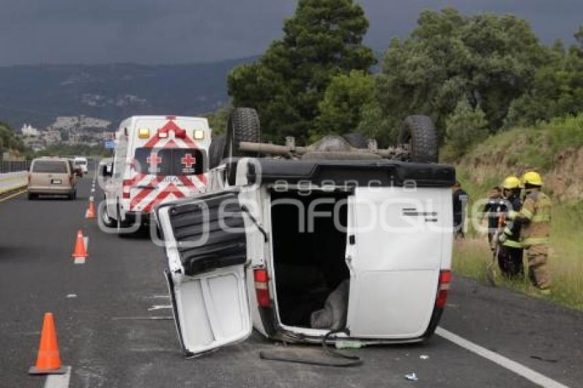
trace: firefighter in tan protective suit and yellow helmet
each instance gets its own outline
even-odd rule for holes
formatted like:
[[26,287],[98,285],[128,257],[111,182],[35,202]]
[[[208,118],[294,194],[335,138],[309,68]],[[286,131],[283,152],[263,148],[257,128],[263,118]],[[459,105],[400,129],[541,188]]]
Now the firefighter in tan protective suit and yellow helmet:
[[550,293],[551,279],[547,268],[549,236],[551,234],[551,199],[540,191],[543,179],[534,171],[523,175],[525,198],[512,228],[508,232],[521,231],[521,243],[527,250],[528,274],[534,286],[543,294]]

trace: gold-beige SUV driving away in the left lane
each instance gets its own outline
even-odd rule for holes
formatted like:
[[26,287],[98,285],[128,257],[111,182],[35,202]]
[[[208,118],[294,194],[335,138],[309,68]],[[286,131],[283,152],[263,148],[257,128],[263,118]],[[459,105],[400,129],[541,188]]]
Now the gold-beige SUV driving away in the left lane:
[[67,158],[37,158],[30,165],[28,175],[28,199],[39,194],[77,197],[75,167]]

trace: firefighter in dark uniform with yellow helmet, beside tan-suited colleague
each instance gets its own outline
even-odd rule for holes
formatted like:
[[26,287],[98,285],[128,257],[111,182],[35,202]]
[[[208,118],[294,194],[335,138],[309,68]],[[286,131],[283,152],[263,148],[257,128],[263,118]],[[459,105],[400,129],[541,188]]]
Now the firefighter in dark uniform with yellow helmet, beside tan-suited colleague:
[[499,237],[497,254],[500,271],[508,278],[524,276],[523,247],[520,242],[520,228],[514,228],[513,221],[522,207],[521,181],[509,176],[502,184],[503,205],[501,212],[506,218],[506,226]]

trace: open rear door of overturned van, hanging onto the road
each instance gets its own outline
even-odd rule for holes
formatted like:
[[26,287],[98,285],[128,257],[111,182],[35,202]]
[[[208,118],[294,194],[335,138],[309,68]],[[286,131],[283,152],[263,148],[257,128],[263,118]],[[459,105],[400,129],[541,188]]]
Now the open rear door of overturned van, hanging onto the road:
[[178,337],[187,356],[246,339],[252,330],[245,220],[237,192],[156,208]]

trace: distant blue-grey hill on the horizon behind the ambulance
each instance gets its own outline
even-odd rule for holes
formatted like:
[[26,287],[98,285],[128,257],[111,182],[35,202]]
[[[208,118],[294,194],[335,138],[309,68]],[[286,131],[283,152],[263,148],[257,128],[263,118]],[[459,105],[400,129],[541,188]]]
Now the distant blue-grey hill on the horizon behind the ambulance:
[[0,119],[43,128],[58,116],[86,115],[116,124],[134,114],[197,114],[228,101],[226,74],[256,58],[145,66],[0,67]]

